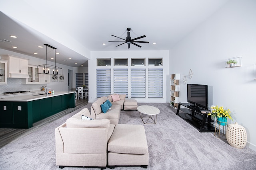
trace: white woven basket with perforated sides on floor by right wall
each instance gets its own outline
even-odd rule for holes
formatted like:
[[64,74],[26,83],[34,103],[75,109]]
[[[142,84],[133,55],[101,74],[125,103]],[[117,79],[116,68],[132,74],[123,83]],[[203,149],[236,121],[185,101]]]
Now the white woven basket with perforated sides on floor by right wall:
[[227,141],[229,145],[235,148],[242,149],[247,143],[247,134],[243,126],[235,124],[228,125]]

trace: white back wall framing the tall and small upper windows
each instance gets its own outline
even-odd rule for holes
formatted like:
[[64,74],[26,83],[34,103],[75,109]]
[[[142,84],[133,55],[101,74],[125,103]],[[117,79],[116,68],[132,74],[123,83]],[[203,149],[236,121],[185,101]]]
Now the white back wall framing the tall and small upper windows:
[[[111,58],[111,66],[100,66],[97,67],[97,59],[100,58]],[[128,66],[114,66],[114,58],[128,58]],[[96,68],[111,68],[111,72],[113,73],[113,68],[135,68],[136,66],[130,66],[131,58],[163,58],[163,66],[144,66],[144,68],[164,68],[164,87],[163,87],[163,98],[135,98],[137,102],[169,102],[169,51],[92,51],[91,52],[91,60],[88,61],[89,65],[89,102],[94,102],[96,100]],[[146,62],[147,63],[147,62]],[[138,67],[137,67],[138,68]],[[113,77],[113,76],[112,76]],[[147,75],[146,75],[147,77]],[[113,82],[113,79],[111,79]],[[113,83],[112,83],[113,84]],[[148,84],[148,80],[146,79],[146,84]],[[166,88],[167,87],[167,88]],[[147,89],[146,89],[147,90]],[[113,87],[111,90],[111,94],[113,94]],[[147,91],[146,91],[147,93]],[[129,92],[128,92],[129,94]],[[168,96],[166,95],[168,94]],[[129,95],[128,95],[129,98]]]

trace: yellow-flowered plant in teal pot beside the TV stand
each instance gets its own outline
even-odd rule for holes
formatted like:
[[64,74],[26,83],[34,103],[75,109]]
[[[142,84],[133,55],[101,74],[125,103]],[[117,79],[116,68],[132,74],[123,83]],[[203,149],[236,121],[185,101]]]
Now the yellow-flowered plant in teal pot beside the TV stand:
[[208,115],[211,115],[212,117],[217,118],[217,123],[219,125],[226,125],[227,118],[232,119],[230,115],[230,109],[224,109],[223,106],[218,107],[218,106],[213,106],[211,107],[212,112],[208,113]]

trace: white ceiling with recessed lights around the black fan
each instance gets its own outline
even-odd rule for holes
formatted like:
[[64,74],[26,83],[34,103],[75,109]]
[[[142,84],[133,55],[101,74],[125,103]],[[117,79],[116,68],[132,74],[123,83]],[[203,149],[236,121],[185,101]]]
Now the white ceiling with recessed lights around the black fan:
[[[56,63],[73,67],[85,66],[90,51],[170,50],[227,1],[1,0],[0,40],[12,42],[0,41],[0,48],[46,59],[46,47],[38,46],[49,44],[60,53]],[[132,38],[146,35],[139,41],[150,43],[128,49],[127,44],[108,42],[120,41],[111,35],[126,39],[128,27]]]

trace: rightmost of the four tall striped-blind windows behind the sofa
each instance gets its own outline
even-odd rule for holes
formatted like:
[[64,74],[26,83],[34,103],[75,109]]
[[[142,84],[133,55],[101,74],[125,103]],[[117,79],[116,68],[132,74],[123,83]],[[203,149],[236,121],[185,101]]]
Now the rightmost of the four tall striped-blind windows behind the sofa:
[[163,69],[148,69],[148,98],[163,97]]

